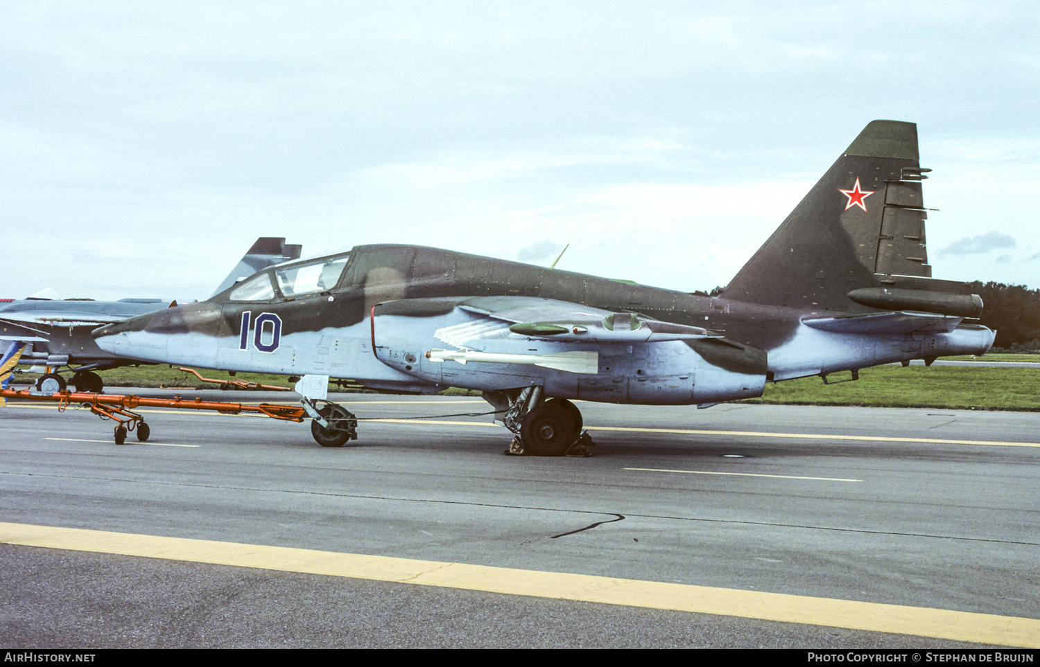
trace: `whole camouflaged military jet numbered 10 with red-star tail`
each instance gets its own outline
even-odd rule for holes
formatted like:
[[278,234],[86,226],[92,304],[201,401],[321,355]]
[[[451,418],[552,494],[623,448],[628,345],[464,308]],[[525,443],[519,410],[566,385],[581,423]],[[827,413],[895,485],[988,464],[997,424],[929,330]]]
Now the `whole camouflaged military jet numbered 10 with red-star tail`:
[[[484,392],[531,454],[579,438],[570,399],[710,406],[765,382],[940,355],[994,332],[964,283],[933,279],[914,124],[875,121],[718,296],[410,245],[265,269],[201,303],[101,327],[151,362]],[[308,393],[312,434],[356,436]]]

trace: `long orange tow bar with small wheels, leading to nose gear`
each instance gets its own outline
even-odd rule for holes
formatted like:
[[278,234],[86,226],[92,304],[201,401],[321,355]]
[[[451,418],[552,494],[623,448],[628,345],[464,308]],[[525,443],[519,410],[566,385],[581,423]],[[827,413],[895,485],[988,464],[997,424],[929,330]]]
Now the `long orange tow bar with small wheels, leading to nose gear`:
[[32,394],[29,390],[2,390],[0,396],[4,399],[20,398],[30,401],[49,401],[58,404],[58,411],[63,412],[72,404],[79,404],[89,409],[101,419],[118,422],[115,426],[115,444],[122,445],[127,439],[129,431],[137,431],[137,439],[144,443],[151,433],[151,428],[145,423],[145,418],[134,412],[138,406],[170,407],[188,410],[215,410],[224,415],[251,412],[263,415],[271,419],[286,422],[303,422],[307,411],[296,405],[277,405],[261,403],[260,405],[243,405],[242,403],[223,403],[204,401],[201,398],[185,400],[180,396],[174,398],[141,398],[140,396],[120,396],[118,394],[87,394],[82,392],[61,391],[54,394]]

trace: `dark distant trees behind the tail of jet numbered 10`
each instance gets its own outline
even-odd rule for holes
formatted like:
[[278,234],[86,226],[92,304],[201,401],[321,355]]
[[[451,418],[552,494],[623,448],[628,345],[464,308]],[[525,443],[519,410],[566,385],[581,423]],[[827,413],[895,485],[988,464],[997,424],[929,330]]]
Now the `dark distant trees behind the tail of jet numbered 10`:
[[[979,281],[970,285],[971,293],[982,297],[983,312],[979,323],[996,329],[994,351],[1040,351],[1040,289]],[[719,286],[708,294],[719,296],[725,289]]]

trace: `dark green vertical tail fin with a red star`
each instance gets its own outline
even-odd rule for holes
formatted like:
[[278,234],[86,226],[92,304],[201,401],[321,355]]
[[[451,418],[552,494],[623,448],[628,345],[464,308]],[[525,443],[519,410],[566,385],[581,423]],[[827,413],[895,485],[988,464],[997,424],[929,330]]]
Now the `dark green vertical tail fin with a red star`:
[[[722,296],[854,313],[914,301],[978,317],[981,301],[962,298],[965,284],[930,277],[920,183],[930,169],[918,160],[916,125],[868,124]],[[933,293],[959,297],[951,305]],[[930,300],[941,303],[922,309]]]

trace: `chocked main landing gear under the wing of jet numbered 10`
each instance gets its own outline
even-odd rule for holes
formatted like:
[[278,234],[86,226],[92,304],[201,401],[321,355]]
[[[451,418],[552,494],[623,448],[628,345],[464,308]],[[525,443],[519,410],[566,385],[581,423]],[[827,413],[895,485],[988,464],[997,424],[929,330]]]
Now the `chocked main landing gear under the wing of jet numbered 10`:
[[591,456],[586,448],[595,443],[582,429],[581,411],[567,399],[542,398],[541,386],[484,393],[486,401],[504,412],[495,421],[517,434],[506,454]]

